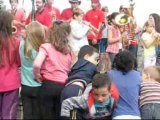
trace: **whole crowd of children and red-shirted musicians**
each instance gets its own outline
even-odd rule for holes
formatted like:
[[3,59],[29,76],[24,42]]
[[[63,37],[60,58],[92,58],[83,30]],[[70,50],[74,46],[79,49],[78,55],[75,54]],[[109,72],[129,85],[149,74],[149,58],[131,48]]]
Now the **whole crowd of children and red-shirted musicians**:
[[60,15],[36,0],[36,21],[18,0],[0,10],[0,119],[16,119],[19,98],[24,119],[160,119],[160,16],[139,30],[133,5],[108,16],[99,0],[86,14],[69,2]]

